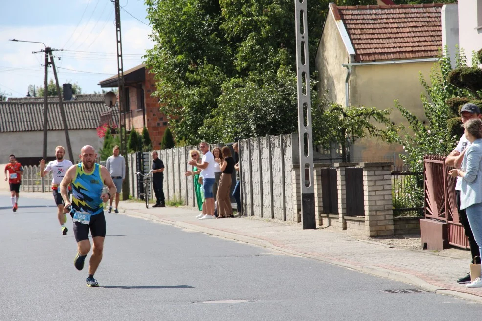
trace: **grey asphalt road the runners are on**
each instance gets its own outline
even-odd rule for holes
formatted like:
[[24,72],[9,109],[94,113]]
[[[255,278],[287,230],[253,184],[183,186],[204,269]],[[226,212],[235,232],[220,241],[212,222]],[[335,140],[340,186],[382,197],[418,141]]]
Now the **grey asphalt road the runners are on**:
[[[23,193],[25,194],[25,193]],[[479,320],[482,306],[404,283],[170,225],[107,215],[86,287],[53,200],[0,196],[0,320]],[[89,257],[89,256],[88,256]],[[87,261],[86,261],[87,262]],[[203,303],[249,300],[244,303]]]

